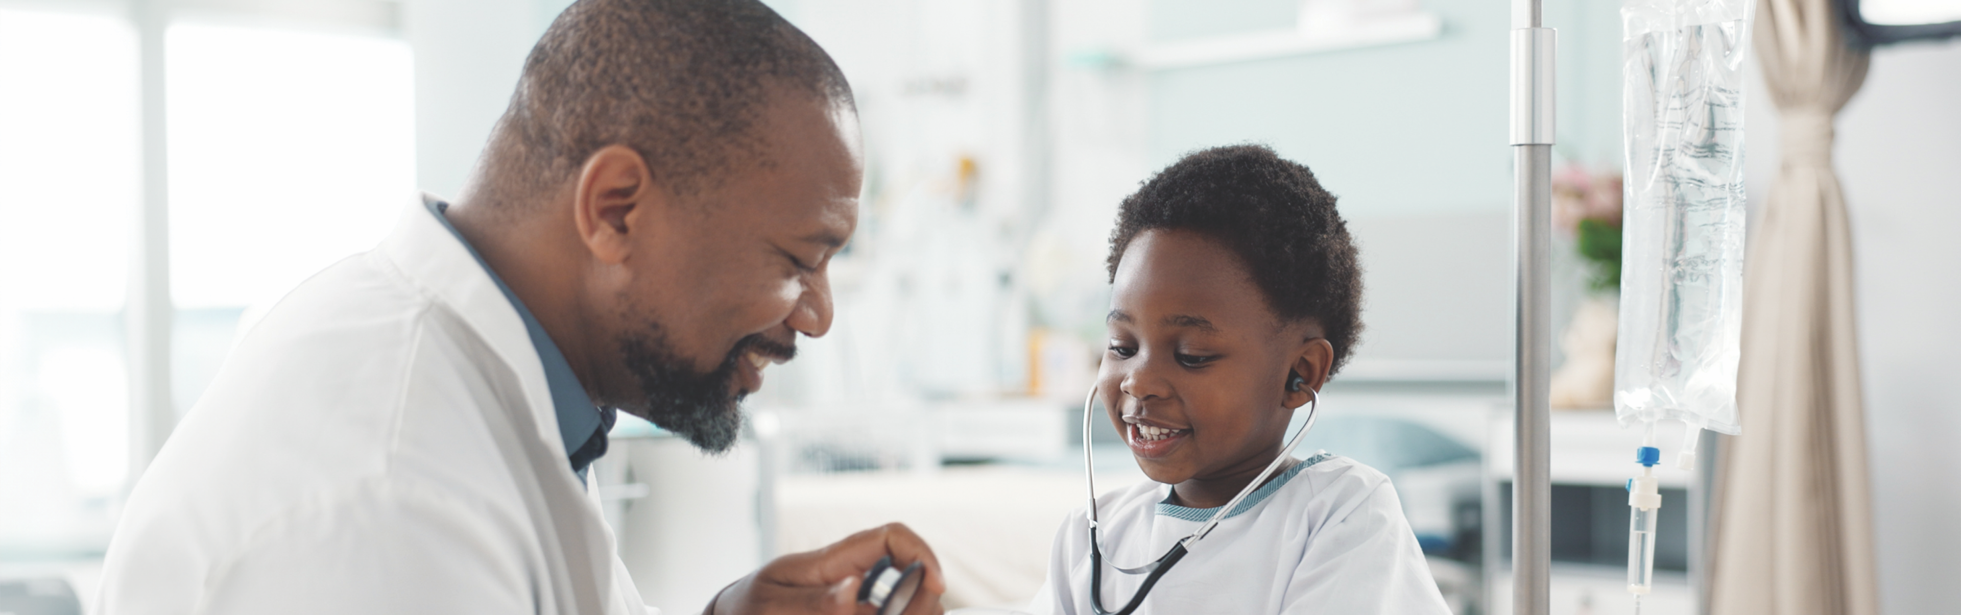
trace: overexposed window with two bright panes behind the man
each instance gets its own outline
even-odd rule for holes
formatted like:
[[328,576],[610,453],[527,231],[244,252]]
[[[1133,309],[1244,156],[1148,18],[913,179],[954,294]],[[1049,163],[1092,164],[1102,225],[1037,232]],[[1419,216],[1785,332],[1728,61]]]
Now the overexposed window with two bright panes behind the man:
[[[165,31],[178,413],[241,319],[375,247],[414,200],[408,45],[237,24],[257,22]],[[126,14],[0,8],[4,558],[102,552],[127,490],[139,71]]]

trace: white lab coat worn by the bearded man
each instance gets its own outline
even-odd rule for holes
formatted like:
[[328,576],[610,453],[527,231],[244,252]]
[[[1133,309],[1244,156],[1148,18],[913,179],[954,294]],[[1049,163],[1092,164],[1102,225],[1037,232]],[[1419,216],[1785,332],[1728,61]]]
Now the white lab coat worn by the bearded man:
[[129,494],[100,605],[649,611],[516,308],[420,202],[231,351]]

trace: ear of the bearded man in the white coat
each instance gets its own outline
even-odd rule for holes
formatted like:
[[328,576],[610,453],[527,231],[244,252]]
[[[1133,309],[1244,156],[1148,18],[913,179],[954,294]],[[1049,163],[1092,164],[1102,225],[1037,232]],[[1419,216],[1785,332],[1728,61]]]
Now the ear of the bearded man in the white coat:
[[606,145],[586,157],[573,188],[573,223],[580,243],[600,262],[626,262],[633,233],[649,233],[653,210],[667,208],[647,161],[626,145]]

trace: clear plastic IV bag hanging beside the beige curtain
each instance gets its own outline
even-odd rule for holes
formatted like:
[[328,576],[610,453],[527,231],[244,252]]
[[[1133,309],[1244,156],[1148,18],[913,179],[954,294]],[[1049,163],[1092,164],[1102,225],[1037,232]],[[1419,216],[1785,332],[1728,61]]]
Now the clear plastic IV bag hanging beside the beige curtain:
[[1753,0],[1622,6],[1620,339],[1614,415],[1737,433],[1743,61]]

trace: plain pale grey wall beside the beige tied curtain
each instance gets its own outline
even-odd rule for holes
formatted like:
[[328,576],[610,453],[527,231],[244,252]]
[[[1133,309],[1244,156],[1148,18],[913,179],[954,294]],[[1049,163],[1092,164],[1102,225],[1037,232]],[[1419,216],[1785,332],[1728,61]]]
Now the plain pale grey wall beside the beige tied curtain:
[[[1757,80],[1753,80],[1757,84]],[[1749,92],[1753,200],[1777,170],[1777,112]],[[1834,149],[1857,259],[1879,590],[1886,613],[1951,609],[1961,570],[1961,41],[1883,47]]]

